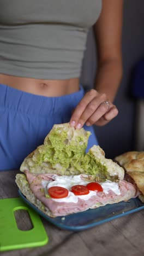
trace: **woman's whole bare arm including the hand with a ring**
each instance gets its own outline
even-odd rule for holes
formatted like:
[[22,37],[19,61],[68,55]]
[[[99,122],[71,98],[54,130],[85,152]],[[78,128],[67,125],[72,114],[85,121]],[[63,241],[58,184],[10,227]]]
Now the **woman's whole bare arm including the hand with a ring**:
[[[118,114],[112,102],[122,78],[122,10],[123,0],[103,0],[100,17],[94,25],[98,46],[94,89],[86,93],[70,119],[70,125],[78,129],[85,123],[105,125]],[[105,101],[109,102],[109,109]]]

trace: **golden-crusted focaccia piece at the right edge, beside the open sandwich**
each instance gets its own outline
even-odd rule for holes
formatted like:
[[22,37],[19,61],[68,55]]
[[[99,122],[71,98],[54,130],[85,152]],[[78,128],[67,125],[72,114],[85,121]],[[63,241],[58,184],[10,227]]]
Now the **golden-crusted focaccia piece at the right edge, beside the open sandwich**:
[[115,160],[135,181],[141,191],[139,198],[144,202],[144,152],[131,151],[116,156]]

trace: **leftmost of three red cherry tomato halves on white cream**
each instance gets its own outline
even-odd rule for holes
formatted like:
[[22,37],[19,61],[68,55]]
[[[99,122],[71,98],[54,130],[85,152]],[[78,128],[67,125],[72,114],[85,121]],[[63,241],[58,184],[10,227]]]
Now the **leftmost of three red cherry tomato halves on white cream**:
[[55,186],[49,188],[48,193],[52,198],[64,198],[68,196],[69,191],[63,187]]

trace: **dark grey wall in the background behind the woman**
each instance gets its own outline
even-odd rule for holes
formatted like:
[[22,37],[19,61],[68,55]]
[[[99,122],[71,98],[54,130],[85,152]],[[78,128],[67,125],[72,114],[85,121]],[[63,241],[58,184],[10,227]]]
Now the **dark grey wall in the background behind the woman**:
[[[105,151],[106,158],[113,158],[124,152],[135,150],[136,102],[130,96],[130,85],[133,68],[136,62],[144,57],[143,0],[124,0],[122,53],[123,79],[115,98],[119,114],[106,126],[95,126],[95,133],[100,147]],[[81,74],[81,83],[86,88],[93,88],[96,69],[97,51],[93,32],[90,30]]]

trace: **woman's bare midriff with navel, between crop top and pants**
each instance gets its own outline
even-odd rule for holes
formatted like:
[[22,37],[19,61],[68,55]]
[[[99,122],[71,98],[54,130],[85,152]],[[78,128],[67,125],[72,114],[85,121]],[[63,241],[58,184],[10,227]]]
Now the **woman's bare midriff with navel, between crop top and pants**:
[[58,97],[79,91],[79,78],[46,80],[0,74],[0,84],[46,97]]

